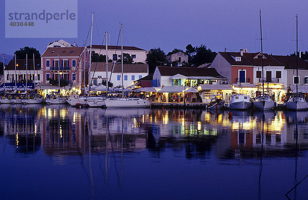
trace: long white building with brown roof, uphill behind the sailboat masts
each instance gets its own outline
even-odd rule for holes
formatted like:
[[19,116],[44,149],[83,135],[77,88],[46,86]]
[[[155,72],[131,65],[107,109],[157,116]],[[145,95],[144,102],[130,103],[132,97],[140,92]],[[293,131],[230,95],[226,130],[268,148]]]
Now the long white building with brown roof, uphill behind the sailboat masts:
[[[90,46],[87,46],[90,50]],[[92,51],[98,53],[99,55],[106,55],[106,46],[105,45],[92,45]],[[138,47],[128,47],[123,46],[123,53],[128,53],[134,63],[144,63],[146,64],[146,54],[148,53],[144,49]],[[118,61],[121,55],[121,46],[108,46],[108,59],[112,61]]]

